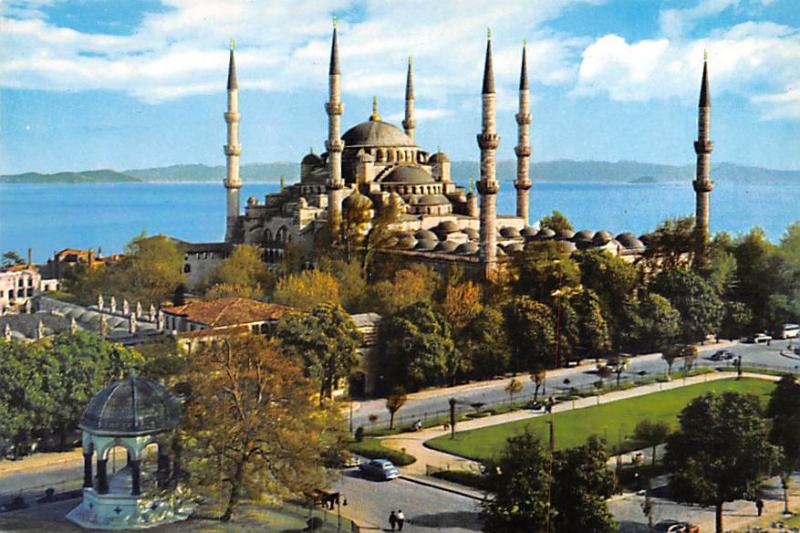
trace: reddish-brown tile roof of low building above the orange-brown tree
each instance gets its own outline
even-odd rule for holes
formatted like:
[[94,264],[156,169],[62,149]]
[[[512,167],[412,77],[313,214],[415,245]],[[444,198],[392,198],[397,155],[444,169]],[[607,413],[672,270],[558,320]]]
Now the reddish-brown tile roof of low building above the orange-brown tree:
[[259,302],[249,298],[221,298],[210,302],[189,302],[186,305],[167,307],[163,311],[186,317],[192,322],[205,324],[209,328],[274,321],[286,313],[298,312],[293,307]]

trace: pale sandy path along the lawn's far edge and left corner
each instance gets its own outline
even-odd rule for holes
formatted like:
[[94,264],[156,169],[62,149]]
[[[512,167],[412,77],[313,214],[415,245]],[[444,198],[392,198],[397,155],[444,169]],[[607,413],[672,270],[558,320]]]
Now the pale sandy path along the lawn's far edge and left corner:
[[[709,381],[731,379],[735,377],[736,377],[735,372],[717,372],[717,373],[701,374],[699,376],[693,376],[690,378],[674,379],[673,381],[668,381],[665,383],[653,383],[650,385],[642,385],[640,387],[634,387],[627,390],[613,391],[598,396],[590,396],[587,398],[580,398],[569,402],[557,403],[553,406],[553,412],[561,413],[565,411],[571,411],[573,409],[583,409],[585,407],[592,407],[594,405],[601,405],[628,398],[635,398],[637,396],[644,396],[645,394],[651,394],[654,392],[661,392],[661,391],[676,389],[679,387],[685,387],[688,385],[694,385],[697,383],[706,383]],[[765,379],[769,381],[777,381],[780,379],[777,376],[769,376],[765,374],[756,374],[749,372],[743,373],[742,377]],[[469,431],[472,429],[491,427],[499,424],[505,424],[507,422],[516,422],[517,420],[527,420],[531,418],[536,418],[539,416],[543,416],[543,414],[544,414],[543,412],[534,412],[528,410],[512,411],[510,413],[504,413],[501,415],[487,416],[484,418],[477,418],[473,420],[459,422],[458,425],[456,426],[456,430]],[[428,448],[427,446],[425,446],[426,441],[434,439],[436,437],[447,435],[449,433],[450,432],[448,430],[445,430],[442,426],[436,426],[436,427],[426,428],[421,431],[416,431],[411,433],[401,433],[399,435],[382,437],[381,442],[387,448],[405,451],[405,453],[411,454],[417,458],[417,460],[414,463],[408,466],[404,466],[400,469],[400,471],[403,473],[413,474],[413,475],[426,475],[429,467],[432,467],[433,469],[443,469],[443,470],[460,469],[460,470],[476,471],[479,465],[477,461],[465,459],[457,455],[441,452],[439,450],[434,450],[432,448]],[[644,450],[644,453],[647,454],[647,450]],[[630,454],[628,454],[628,456],[623,456],[623,460],[629,461]]]

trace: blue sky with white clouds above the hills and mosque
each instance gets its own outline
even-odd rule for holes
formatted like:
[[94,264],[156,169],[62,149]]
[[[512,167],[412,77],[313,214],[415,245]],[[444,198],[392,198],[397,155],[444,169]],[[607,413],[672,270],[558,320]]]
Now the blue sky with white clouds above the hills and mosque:
[[796,0],[0,0],[0,173],[224,164],[236,40],[242,163],[324,150],[331,21],[343,127],[400,123],[477,160],[492,28],[499,159],[513,159],[523,41],[533,160],[694,161],[704,50],[714,161],[800,169]]

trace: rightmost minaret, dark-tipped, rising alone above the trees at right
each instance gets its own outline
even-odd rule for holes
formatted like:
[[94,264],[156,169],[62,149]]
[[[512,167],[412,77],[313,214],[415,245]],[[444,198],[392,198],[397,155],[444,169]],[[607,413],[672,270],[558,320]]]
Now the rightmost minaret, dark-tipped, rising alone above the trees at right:
[[711,96],[708,90],[708,54],[703,61],[703,81],[700,86],[700,103],[697,116],[697,140],[694,151],[697,154],[697,175],[692,182],[696,197],[695,210],[695,244],[697,257],[702,261],[705,245],[709,238],[708,200],[714,189],[711,181],[711,151],[714,142],[710,138],[711,130]]

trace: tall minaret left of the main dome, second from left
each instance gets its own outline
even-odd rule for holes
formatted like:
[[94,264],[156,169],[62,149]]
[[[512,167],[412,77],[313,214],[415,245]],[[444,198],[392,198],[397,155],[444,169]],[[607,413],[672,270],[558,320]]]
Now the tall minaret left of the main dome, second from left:
[[[328,149],[328,223],[338,226],[342,217],[342,196],[344,180],[342,179],[342,112],[344,105],[341,100],[341,71],[339,70],[339,40],[337,36],[336,18],[333,19],[333,41],[331,43],[331,64],[328,71],[328,102],[325,111],[328,113],[328,140],[325,147]],[[336,234],[336,231],[333,231]]]

